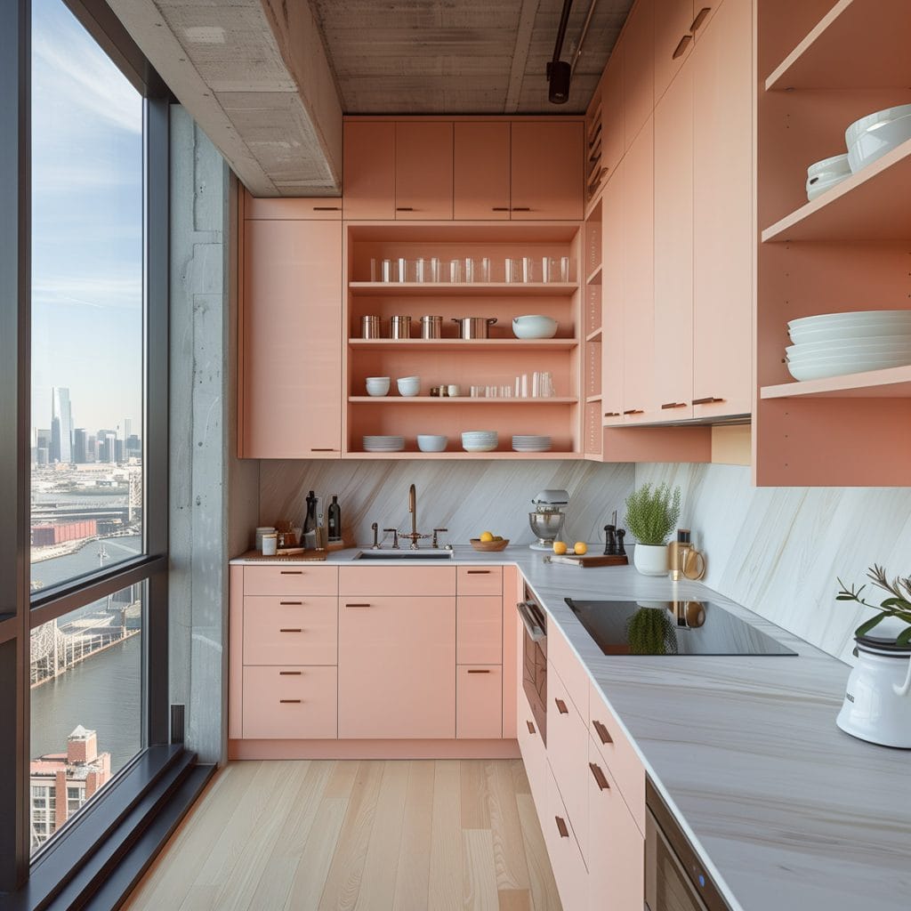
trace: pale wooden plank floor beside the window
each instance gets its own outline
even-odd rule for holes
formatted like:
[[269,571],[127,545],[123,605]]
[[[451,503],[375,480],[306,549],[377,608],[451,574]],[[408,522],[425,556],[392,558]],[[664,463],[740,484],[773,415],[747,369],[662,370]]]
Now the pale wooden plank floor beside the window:
[[519,760],[222,770],[129,911],[559,911]]

